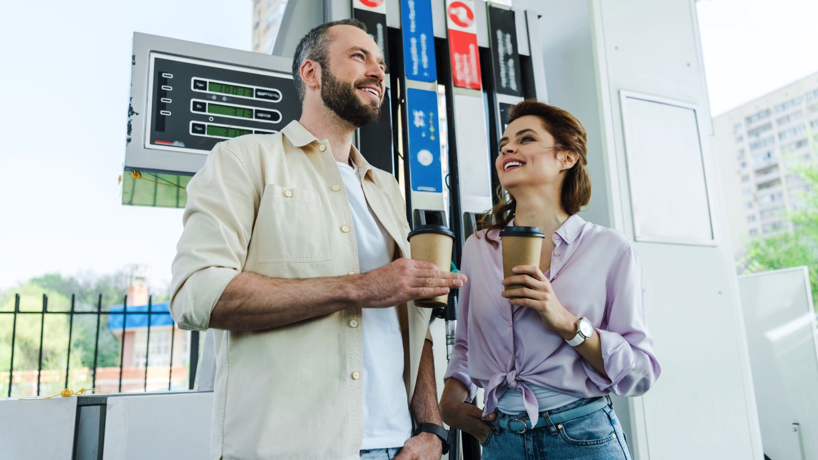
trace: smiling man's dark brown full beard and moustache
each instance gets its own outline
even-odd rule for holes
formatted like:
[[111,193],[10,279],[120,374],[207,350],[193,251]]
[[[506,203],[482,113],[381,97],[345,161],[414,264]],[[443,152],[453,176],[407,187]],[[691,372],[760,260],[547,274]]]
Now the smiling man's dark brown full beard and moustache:
[[[323,71],[321,84],[321,101],[330,108],[341,120],[348,121],[357,128],[369,124],[380,118],[380,104],[383,101],[372,101],[365,104],[357,95],[357,89],[352,83],[335,78],[329,69]],[[362,82],[364,85],[374,85],[383,88],[380,81],[371,80]]]

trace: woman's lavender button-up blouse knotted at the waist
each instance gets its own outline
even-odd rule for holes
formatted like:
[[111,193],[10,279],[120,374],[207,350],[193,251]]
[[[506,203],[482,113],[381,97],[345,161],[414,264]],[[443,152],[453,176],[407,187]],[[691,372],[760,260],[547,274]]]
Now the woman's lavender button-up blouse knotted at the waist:
[[[509,223],[513,225],[512,221]],[[500,241],[499,231],[489,232]],[[465,242],[456,344],[445,378],[485,390],[483,415],[506,391],[519,391],[536,423],[537,398],[529,385],[578,398],[613,393],[643,395],[661,372],[645,321],[642,272],[631,241],[622,233],[573,214],[553,235],[551,269],[545,275],[565,309],[588,318],[600,333],[608,378],[546,329],[534,309],[511,306],[503,291],[502,245],[494,249],[485,231]]]

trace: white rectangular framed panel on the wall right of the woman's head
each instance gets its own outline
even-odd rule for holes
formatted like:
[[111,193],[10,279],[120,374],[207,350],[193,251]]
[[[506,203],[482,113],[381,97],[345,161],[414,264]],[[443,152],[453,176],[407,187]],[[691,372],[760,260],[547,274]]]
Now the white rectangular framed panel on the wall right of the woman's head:
[[636,241],[714,244],[695,106],[621,94]]

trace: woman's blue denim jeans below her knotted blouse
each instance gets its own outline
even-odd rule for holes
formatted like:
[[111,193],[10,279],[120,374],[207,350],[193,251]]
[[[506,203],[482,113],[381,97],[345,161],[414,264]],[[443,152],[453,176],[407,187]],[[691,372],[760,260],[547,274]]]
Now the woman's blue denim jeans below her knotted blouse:
[[[552,413],[563,412],[587,404],[592,399],[579,399]],[[497,412],[497,416],[502,414]],[[516,417],[526,417],[521,413]],[[560,426],[561,427],[558,427]],[[559,458],[560,460],[631,460],[622,426],[609,403],[600,410],[562,422],[558,426],[542,426],[524,433],[501,430],[492,426],[483,446],[483,460],[525,460],[526,458]]]

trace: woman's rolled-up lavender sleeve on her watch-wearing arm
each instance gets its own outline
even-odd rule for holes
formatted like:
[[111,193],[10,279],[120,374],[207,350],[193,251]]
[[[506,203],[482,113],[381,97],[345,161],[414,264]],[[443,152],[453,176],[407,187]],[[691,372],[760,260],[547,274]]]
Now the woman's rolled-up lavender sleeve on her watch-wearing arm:
[[645,394],[659,377],[661,368],[654,355],[654,339],[645,321],[642,268],[636,250],[628,243],[609,274],[605,318],[600,333],[602,359],[610,379],[582,360],[588,377],[600,390],[618,396]]

